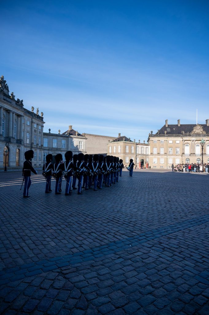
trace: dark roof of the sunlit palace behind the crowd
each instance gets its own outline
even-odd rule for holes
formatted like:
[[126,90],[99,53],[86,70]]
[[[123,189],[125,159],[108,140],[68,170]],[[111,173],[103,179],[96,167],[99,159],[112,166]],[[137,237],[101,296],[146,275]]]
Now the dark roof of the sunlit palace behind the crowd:
[[[206,134],[209,133],[209,126],[207,126],[206,124],[197,124],[197,126],[198,125],[202,126],[203,131],[205,131]],[[165,131],[167,135],[191,134],[194,127],[196,127],[196,124],[181,124],[180,126],[176,124],[176,125],[168,125],[168,127],[164,125],[161,129],[159,129],[159,132],[156,132],[156,135],[159,135],[159,133],[160,135],[165,135]],[[200,133],[195,132],[194,134],[202,134],[202,132]]]

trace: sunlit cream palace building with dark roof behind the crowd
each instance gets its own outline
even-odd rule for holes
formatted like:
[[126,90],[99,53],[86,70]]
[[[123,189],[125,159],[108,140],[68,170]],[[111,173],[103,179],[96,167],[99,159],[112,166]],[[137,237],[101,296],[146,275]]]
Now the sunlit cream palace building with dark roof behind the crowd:
[[203,145],[203,163],[209,163],[209,119],[205,124],[168,124],[148,137],[150,146],[149,166],[157,169],[169,169],[179,163],[201,163]]

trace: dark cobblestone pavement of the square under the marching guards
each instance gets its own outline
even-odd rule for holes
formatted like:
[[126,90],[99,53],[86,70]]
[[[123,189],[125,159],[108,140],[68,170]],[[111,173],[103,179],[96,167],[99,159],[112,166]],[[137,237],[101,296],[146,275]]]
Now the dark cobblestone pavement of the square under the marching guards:
[[24,199],[0,173],[1,314],[209,314],[208,174],[124,171],[79,196],[31,179]]

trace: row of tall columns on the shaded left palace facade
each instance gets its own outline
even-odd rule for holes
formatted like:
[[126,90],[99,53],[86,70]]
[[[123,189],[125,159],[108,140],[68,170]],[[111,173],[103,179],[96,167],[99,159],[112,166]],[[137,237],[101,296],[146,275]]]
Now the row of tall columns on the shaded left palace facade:
[[[8,124],[8,137],[14,138],[15,135],[15,112],[8,111],[9,113],[9,124]],[[16,126],[16,139],[22,140],[23,139],[23,115],[18,115],[18,123]],[[6,131],[6,121],[4,122],[4,136]],[[3,132],[3,107],[0,107],[0,135]]]

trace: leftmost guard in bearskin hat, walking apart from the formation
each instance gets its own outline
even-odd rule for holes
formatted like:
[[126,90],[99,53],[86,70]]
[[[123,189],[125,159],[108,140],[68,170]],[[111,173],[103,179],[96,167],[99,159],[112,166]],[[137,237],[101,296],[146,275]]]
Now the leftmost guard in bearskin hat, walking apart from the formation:
[[28,150],[25,152],[25,162],[23,163],[23,176],[25,179],[24,191],[23,191],[23,198],[29,198],[28,191],[31,185],[31,172],[34,174],[38,174],[37,171],[32,167],[31,160],[33,158],[34,152],[33,150]]

